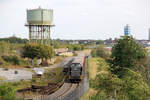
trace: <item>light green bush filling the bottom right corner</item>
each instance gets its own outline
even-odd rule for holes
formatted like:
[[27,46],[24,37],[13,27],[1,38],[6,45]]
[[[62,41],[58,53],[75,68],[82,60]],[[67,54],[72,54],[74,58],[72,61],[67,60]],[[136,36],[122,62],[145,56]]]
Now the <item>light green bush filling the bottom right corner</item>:
[[144,82],[142,76],[130,69],[125,70],[122,80],[123,91],[129,100],[150,100],[150,87]]

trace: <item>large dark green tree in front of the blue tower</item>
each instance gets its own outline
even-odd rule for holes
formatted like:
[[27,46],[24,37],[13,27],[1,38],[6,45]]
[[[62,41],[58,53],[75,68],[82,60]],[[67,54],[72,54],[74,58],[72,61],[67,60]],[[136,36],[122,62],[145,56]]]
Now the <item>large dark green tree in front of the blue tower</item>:
[[132,36],[123,36],[112,48],[111,60],[109,60],[112,72],[119,74],[122,69],[135,66],[145,55],[144,48],[136,43]]

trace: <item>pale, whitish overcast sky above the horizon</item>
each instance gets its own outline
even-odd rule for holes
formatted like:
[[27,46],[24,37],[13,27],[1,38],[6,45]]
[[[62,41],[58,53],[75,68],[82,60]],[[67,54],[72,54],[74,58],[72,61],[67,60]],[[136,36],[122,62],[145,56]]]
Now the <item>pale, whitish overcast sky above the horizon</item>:
[[148,38],[150,0],[0,0],[0,37],[28,38],[26,10],[53,9],[51,37],[107,39],[123,35],[126,24],[137,39]]

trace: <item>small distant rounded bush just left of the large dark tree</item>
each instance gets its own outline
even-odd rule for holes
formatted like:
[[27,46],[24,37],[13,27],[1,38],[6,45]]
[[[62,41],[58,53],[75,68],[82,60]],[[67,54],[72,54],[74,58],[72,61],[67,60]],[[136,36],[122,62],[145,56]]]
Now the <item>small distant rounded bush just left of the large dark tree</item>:
[[93,49],[91,51],[91,55],[93,57],[108,58],[109,57],[109,51],[103,45],[99,45],[96,49]]

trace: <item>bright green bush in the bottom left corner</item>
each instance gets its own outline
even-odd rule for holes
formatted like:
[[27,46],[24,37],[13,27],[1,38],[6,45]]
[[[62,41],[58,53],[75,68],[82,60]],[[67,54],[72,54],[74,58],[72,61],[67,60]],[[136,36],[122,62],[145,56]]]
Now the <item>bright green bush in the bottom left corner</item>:
[[10,84],[1,84],[0,85],[0,96],[2,100],[15,100],[15,90]]

